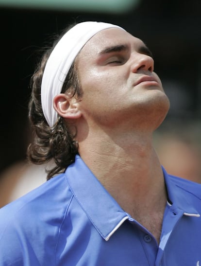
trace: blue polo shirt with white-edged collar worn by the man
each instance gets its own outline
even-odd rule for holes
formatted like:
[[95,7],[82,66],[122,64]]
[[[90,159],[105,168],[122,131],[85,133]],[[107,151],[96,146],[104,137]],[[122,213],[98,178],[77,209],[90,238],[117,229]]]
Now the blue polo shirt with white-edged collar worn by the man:
[[201,266],[201,185],[168,176],[156,240],[76,156],[0,210],[0,266]]

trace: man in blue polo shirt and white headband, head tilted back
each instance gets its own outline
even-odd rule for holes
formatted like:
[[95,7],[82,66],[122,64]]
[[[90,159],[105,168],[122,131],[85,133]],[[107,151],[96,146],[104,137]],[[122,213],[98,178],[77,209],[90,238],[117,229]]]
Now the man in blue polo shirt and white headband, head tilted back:
[[169,101],[149,49],[83,22],[48,56],[33,75],[29,157],[56,166],[1,210],[0,266],[199,265],[201,186],[168,176],[152,147]]

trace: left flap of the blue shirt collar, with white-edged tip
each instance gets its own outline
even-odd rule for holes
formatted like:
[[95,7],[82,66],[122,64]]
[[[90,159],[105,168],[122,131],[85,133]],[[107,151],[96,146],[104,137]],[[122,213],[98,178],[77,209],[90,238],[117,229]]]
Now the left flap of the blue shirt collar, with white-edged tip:
[[94,227],[108,240],[129,218],[128,214],[105,190],[79,155],[76,155],[75,162],[67,167],[66,178],[73,195]]

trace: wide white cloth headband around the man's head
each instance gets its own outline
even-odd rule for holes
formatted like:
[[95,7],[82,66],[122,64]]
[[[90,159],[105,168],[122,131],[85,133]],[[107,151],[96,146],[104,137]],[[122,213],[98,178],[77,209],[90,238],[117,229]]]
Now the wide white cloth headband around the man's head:
[[[101,30],[120,28],[117,25],[86,21],[71,28],[56,44],[47,61],[41,84],[41,105],[50,126],[56,123],[58,114],[53,99],[63,87],[67,73],[84,44]],[[122,29],[122,28],[120,28]]]

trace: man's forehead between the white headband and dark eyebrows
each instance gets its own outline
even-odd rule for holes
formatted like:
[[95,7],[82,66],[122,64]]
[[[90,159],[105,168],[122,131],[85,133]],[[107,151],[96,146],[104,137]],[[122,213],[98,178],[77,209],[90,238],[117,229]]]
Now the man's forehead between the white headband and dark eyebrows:
[[129,48],[138,49],[138,47],[143,46],[144,43],[139,38],[134,37],[122,29],[109,28],[100,31],[89,39],[81,50],[79,57],[98,54],[106,47],[115,45],[126,45]]

